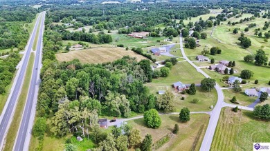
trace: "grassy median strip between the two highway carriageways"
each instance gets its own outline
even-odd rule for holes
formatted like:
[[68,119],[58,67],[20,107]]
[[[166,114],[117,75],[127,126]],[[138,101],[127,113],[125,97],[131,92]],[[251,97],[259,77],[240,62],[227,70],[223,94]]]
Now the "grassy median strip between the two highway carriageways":
[[27,95],[28,95],[28,88],[30,85],[30,79],[32,75],[34,60],[35,60],[35,55],[31,53],[28,66],[26,69],[26,76],[24,79],[24,85],[22,87],[23,89],[21,90],[21,94],[19,95],[14,117],[10,124],[10,129],[8,130],[8,134],[7,134],[8,137],[6,137],[7,139],[6,139],[6,145],[5,145],[4,150],[12,150],[13,144],[15,143],[17,130],[19,129],[19,125],[21,123],[21,115],[24,112],[24,105],[25,105]]

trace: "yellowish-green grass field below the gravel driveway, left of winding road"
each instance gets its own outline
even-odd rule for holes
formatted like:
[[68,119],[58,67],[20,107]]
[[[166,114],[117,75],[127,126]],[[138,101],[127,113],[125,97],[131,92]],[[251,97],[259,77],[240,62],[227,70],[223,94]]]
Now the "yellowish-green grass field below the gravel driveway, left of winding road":
[[[147,128],[143,119],[135,119],[128,121],[133,128],[141,130],[141,136],[144,138],[146,134],[151,134],[153,142],[158,141],[167,134],[170,134],[174,128],[174,124],[179,124],[179,134],[172,137],[168,143],[165,143],[159,150],[179,150],[181,146],[185,145],[185,150],[195,148],[199,150],[201,141],[204,137],[205,130],[208,125],[208,114],[192,114],[190,115],[190,121],[187,123],[181,123],[179,121],[179,115],[162,115],[161,127],[158,129]],[[200,130],[201,126],[204,128]],[[201,131],[201,132],[200,132]],[[200,135],[198,136],[198,134]],[[197,140],[196,138],[199,137]],[[197,143],[192,147],[192,144]]]

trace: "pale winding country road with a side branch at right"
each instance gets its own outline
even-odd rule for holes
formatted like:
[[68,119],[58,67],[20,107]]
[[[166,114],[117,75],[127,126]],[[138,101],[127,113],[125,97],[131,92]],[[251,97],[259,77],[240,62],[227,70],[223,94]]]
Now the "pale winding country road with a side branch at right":
[[[188,59],[188,57],[186,57],[185,51],[183,50],[183,38],[182,38],[181,34],[180,34],[179,39],[180,39],[180,50],[181,50],[181,53],[183,55],[183,58],[186,59],[186,61],[188,61],[188,63],[190,63],[190,65],[193,66],[197,70],[197,72],[200,72],[206,78],[210,78],[210,76],[208,76],[208,74],[206,74],[203,70],[198,68],[194,63],[192,63],[192,61],[190,61],[190,59]],[[215,85],[215,90],[217,90],[217,104],[215,105],[215,108],[212,110],[212,112],[210,114],[210,120],[208,123],[208,127],[206,129],[206,134],[204,135],[204,140],[201,143],[201,148],[200,148],[201,151],[210,150],[211,143],[213,141],[213,137],[215,134],[215,128],[217,127],[217,122],[219,120],[219,114],[220,114],[222,108],[224,108],[224,107],[235,108],[235,106],[236,106],[236,105],[224,102],[224,94],[222,92],[222,88],[220,88],[217,83]],[[249,108],[249,107],[245,107],[245,106],[238,105],[238,107],[240,109],[243,109],[243,110],[250,110],[250,111],[253,110],[253,108]]]

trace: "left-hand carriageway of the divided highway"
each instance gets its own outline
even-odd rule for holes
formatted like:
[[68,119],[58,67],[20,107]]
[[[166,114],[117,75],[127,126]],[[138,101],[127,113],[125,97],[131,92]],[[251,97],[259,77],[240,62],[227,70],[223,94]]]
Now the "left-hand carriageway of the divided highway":
[[1,113],[0,117],[0,150],[3,149],[3,143],[6,138],[6,134],[8,132],[8,129],[10,127],[10,123],[12,121],[13,114],[15,112],[15,107],[17,105],[17,100],[19,98],[19,94],[21,92],[21,87],[24,83],[24,76],[26,74],[26,68],[28,65],[28,61],[30,58],[30,52],[33,47],[33,43],[35,40],[35,34],[37,32],[37,26],[39,23],[41,15],[39,14],[39,17],[37,18],[37,21],[35,23],[35,27],[33,29],[32,34],[30,35],[30,40],[28,41],[28,44],[26,45],[26,53],[24,53],[24,57],[21,59],[21,66],[19,67],[19,70],[17,72],[17,75],[14,79],[14,82],[12,84],[12,88],[10,90],[10,94],[8,96],[8,100],[6,102],[5,107],[3,108],[3,112]]

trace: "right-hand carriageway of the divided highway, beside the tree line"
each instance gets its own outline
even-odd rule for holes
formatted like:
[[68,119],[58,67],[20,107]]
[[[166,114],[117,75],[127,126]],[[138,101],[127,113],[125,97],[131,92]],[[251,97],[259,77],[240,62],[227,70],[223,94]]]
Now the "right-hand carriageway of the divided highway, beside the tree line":
[[[44,20],[45,20],[45,12],[41,12],[41,23],[39,28],[39,35],[37,40],[37,50],[35,52],[35,62],[33,66],[32,77],[30,81],[30,87],[28,90],[28,96],[26,100],[26,105],[24,108],[24,114],[21,119],[21,124],[19,126],[19,131],[17,133],[17,137],[15,140],[15,145],[13,146],[13,150],[28,150],[28,146],[30,143],[30,129],[33,127],[33,119],[35,116],[35,107],[37,103],[37,89],[39,85],[39,70],[41,68],[41,56],[42,56],[42,37],[44,32]],[[33,112],[34,111],[34,112]]]

